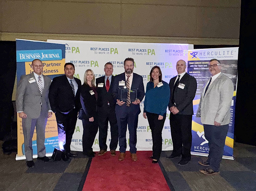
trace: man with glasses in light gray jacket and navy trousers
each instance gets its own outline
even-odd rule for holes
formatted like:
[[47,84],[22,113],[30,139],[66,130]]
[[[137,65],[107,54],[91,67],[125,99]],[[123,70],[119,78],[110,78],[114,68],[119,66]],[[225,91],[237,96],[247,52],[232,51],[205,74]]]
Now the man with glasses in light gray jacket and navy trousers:
[[225,146],[225,140],[230,123],[230,104],[233,98],[234,86],[231,79],[221,73],[221,63],[217,59],[209,62],[211,78],[203,88],[196,117],[201,117],[204,125],[204,135],[209,141],[209,156],[207,161],[199,161],[204,174],[220,173],[220,163]]

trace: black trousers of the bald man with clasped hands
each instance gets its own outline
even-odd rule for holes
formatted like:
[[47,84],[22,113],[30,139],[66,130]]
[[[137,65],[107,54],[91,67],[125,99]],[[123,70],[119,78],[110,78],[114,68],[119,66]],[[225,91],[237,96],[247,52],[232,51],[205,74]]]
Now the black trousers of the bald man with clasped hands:
[[170,113],[172,155],[181,155],[185,161],[191,160],[192,115],[173,115]]

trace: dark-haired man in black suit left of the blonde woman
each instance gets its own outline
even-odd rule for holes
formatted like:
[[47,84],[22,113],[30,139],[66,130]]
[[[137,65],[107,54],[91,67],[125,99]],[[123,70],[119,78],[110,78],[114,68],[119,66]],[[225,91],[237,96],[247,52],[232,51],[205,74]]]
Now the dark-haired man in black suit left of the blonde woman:
[[70,152],[70,144],[77,114],[81,108],[81,80],[74,78],[75,66],[72,63],[65,63],[64,72],[65,75],[52,80],[49,100],[57,120],[60,149],[66,154],[65,160],[67,160],[68,157],[75,156]]

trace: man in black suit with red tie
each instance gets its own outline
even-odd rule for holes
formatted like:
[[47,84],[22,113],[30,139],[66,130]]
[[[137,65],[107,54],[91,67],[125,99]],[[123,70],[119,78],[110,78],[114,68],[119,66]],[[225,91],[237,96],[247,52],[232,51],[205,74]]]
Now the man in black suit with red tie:
[[107,135],[108,123],[110,124],[111,141],[109,144],[110,154],[116,155],[116,148],[118,144],[118,126],[115,114],[116,100],[114,101],[111,95],[113,89],[113,82],[115,76],[113,73],[113,65],[108,62],[104,66],[105,76],[96,79],[96,86],[98,88],[98,116],[99,116],[99,145],[101,156],[107,152]]

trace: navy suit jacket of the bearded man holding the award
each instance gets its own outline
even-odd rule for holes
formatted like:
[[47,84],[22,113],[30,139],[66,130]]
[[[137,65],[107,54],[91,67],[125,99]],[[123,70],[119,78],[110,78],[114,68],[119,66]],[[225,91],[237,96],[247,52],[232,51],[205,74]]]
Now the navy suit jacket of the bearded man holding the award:
[[[112,90],[112,95],[113,95],[115,101],[121,100],[121,89],[123,88],[123,86],[119,86],[119,81],[122,81],[122,80],[125,81],[125,85],[126,85],[125,73],[115,76],[115,80],[114,80],[114,84],[113,84],[114,86],[113,86],[113,90]],[[142,76],[133,73],[133,79],[132,79],[132,84],[131,84],[130,89],[137,90],[137,99],[139,99],[140,101],[143,100],[144,95],[145,95],[145,90],[144,90]],[[135,94],[131,93],[130,99],[135,100],[136,99]],[[126,108],[127,108],[126,104],[123,104],[122,106],[119,106],[118,104],[116,104],[116,111],[120,112],[120,114],[125,113]],[[140,105],[139,104],[134,105],[131,103],[130,108],[132,108],[134,113],[136,113],[137,115],[140,113]]]

